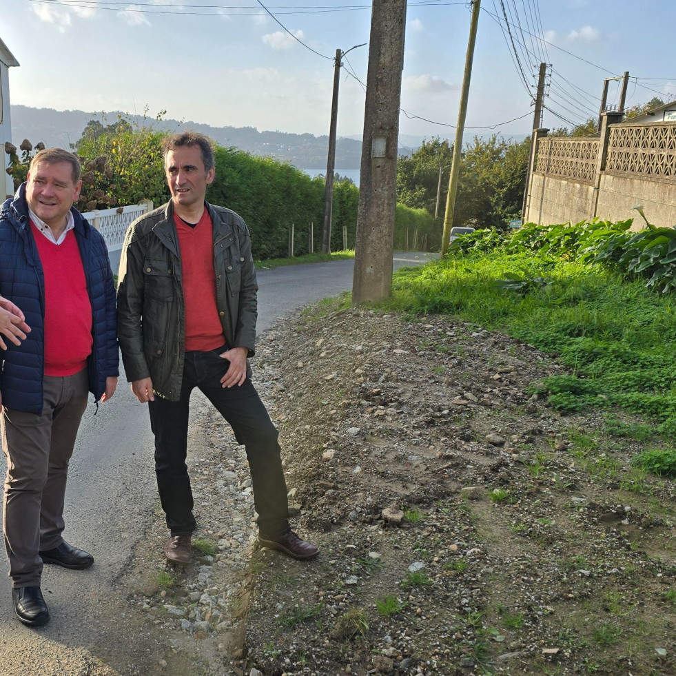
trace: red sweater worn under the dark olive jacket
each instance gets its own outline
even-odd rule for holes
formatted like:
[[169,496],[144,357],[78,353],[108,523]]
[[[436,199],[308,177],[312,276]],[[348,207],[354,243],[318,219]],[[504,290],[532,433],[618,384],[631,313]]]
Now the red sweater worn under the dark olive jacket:
[[225,345],[216,305],[214,225],[204,210],[195,227],[174,214],[181,249],[181,283],[185,307],[185,351],[208,351]]

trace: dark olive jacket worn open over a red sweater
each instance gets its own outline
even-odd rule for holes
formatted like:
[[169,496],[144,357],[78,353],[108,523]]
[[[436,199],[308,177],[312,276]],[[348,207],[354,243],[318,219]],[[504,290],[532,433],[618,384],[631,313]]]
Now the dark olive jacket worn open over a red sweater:
[[[230,209],[206,204],[214,224],[216,305],[228,349],[254,356],[256,269],[245,222]],[[156,395],[181,394],[185,312],[181,250],[169,202],[127,229],[120,261],[117,331],[127,380],[151,378]],[[247,376],[251,367],[247,360]]]

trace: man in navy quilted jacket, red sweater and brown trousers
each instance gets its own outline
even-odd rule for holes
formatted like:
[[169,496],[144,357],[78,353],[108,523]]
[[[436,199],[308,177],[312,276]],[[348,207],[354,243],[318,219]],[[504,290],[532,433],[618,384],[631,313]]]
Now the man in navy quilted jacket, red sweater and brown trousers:
[[0,209],[0,327],[8,336],[0,346],[3,530],[14,609],[27,626],[50,617],[43,563],[83,569],[94,562],[63,540],[68,463],[88,393],[97,404],[110,399],[119,375],[107,248],[73,207],[80,172],[74,154],[41,150]]

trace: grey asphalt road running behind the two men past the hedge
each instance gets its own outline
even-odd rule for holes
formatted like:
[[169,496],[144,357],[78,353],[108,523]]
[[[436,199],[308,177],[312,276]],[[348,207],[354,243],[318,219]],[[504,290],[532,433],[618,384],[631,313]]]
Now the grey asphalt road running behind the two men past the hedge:
[[[430,254],[395,254],[394,266],[419,265]],[[287,312],[351,288],[352,260],[293,265],[258,272],[258,331]],[[0,673],[90,673],[90,656],[115,668],[116,650],[143,661],[142,632],[128,637],[125,600],[116,581],[132,565],[132,552],[156,518],[152,435],[144,404],[124,376],[110,402],[85,412],[70,466],[64,537],[94,554],[87,571],[45,566],[42,588],[51,622],[40,629],[19,624],[10,583],[0,582]],[[6,470],[4,457],[0,471]],[[3,555],[0,560],[5,561]],[[60,666],[57,666],[59,664]]]

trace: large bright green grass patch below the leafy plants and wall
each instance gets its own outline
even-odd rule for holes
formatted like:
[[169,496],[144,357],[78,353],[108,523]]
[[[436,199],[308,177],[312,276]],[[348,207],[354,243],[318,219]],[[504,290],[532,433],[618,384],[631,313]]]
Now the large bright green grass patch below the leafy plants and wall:
[[[519,293],[496,285],[517,273],[547,283]],[[643,280],[525,249],[495,249],[401,270],[383,305],[411,318],[453,314],[535,345],[569,369],[542,383],[553,409],[624,409],[645,422],[611,420],[608,433],[676,440],[676,300],[646,289]]]

